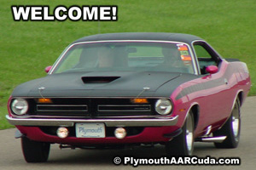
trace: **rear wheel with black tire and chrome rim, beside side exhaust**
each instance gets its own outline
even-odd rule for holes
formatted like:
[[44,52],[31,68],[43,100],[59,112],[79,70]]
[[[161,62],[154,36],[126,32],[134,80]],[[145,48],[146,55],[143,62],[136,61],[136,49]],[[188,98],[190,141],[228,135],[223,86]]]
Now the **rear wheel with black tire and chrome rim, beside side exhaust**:
[[227,136],[222,143],[214,143],[217,148],[236,148],[240,140],[241,116],[240,102],[236,99],[236,103],[231,112],[231,116],[221,129],[213,132],[213,136]]

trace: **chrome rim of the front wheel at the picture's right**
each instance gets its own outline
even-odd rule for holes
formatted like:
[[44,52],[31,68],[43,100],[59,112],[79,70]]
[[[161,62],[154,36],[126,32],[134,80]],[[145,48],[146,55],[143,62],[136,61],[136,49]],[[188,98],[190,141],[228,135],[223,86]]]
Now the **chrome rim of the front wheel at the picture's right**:
[[187,148],[189,151],[189,155],[192,153],[193,150],[193,122],[192,122],[191,115],[188,116],[187,123],[186,123],[186,141],[187,141]]

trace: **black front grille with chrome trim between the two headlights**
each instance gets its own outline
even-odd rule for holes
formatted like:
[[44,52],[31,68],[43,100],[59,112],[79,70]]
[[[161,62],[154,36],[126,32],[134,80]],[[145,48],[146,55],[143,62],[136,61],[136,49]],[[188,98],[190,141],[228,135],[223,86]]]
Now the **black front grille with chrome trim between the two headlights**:
[[29,99],[31,116],[154,116],[156,99],[148,104],[132,104],[131,99],[52,98],[52,104]]

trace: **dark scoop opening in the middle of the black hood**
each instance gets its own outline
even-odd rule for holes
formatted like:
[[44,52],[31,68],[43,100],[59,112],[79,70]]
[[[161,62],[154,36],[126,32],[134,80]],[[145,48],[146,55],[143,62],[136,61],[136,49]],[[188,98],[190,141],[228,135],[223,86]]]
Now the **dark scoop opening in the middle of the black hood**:
[[113,82],[119,77],[82,77],[84,83],[108,83]]

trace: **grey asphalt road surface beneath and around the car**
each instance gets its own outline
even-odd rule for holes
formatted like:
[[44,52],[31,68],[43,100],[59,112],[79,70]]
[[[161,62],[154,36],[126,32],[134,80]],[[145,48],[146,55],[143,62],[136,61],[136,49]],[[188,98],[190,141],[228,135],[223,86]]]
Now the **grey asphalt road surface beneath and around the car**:
[[[236,149],[216,149],[212,143],[195,143],[195,156],[239,157],[240,166],[138,166],[138,169],[256,169],[256,97],[247,98],[241,108],[241,141]],[[113,164],[115,156],[154,157],[165,156],[163,146],[135,147],[122,150],[60,150],[52,144],[49,161],[26,163],[20,148],[20,139],[15,139],[15,129],[0,131],[0,170],[9,169],[133,169],[131,165]]]

